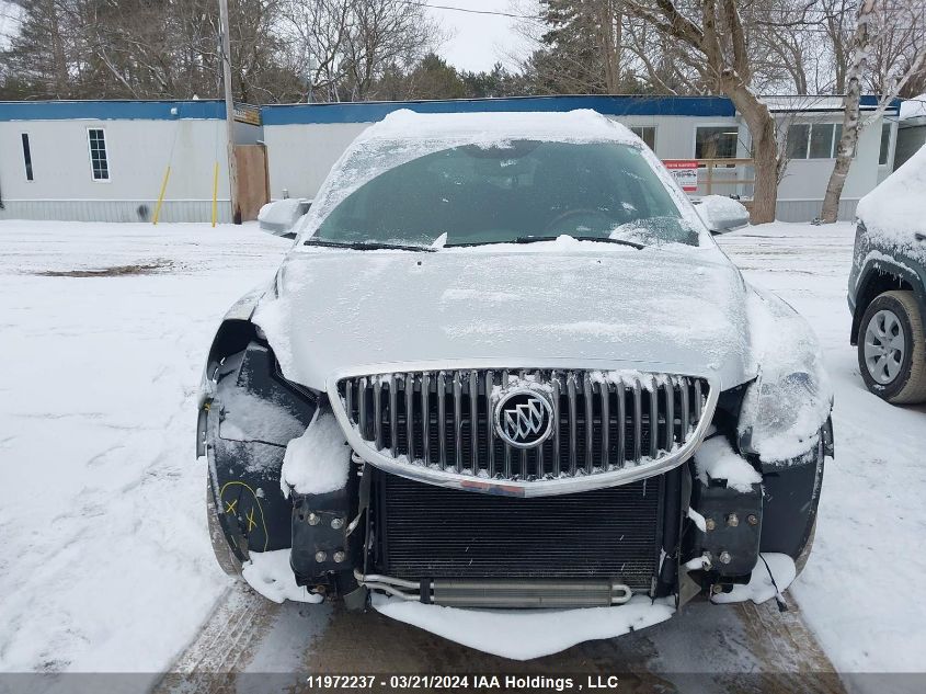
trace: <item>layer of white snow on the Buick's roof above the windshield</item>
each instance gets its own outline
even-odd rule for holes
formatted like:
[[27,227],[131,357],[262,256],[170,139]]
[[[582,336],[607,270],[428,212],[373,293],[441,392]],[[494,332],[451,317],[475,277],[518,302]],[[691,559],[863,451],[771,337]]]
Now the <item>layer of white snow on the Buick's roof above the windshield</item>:
[[626,127],[591,109],[565,113],[415,113],[400,109],[367,128],[356,141],[391,139],[471,143],[615,140],[636,145],[640,141]]

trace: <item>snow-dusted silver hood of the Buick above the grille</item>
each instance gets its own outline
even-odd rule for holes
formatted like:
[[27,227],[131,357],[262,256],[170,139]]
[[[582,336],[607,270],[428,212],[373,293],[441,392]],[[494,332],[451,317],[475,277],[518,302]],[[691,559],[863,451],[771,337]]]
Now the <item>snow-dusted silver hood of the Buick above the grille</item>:
[[298,248],[253,320],[284,375],[318,389],[344,372],[489,364],[666,371],[727,388],[754,376],[746,292],[716,248]]

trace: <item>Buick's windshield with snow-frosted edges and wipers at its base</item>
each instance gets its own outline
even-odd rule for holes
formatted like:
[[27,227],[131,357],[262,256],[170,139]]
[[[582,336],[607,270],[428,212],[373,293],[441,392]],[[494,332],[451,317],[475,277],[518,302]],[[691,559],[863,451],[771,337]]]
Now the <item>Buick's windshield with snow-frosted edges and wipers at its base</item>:
[[310,242],[464,246],[560,235],[698,244],[638,148],[530,140],[451,147],[388,169],[341,201]]

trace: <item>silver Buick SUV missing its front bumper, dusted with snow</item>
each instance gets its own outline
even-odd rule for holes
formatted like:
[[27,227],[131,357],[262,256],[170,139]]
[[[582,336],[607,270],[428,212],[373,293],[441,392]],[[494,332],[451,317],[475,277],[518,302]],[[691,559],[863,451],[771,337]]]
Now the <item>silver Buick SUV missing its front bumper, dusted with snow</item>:
[[511,613],[478,608],[598,608],[516,657],[784,590],[831,395],[803,319],[711,237],[744,213],[590,111],[371,126],[209,351],[219,561],[505,653]]

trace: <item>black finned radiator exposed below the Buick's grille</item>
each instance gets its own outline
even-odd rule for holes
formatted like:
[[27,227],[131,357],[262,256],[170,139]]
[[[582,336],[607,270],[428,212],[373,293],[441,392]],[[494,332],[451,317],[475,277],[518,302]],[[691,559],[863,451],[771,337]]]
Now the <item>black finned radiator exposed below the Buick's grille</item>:
[[664,476],[512,498],[377,473],[374,565],[398,579],[606,580],[648,592],[662,541]]

